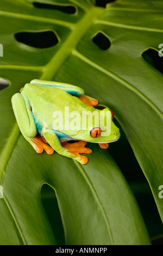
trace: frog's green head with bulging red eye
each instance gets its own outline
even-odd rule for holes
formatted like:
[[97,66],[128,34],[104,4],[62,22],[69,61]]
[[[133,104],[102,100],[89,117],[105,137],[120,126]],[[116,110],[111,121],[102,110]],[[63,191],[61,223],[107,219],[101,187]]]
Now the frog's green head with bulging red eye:
[[[91,114],[92,113],[92,114]],[[93,115],[93,118],[92,118]],[[120,130],[112,119],[114,113],[109,108],[95,109],[87,114],[85,126],[81,127],[77,139],[92,143],[110,143],[120,138]],[[92,121],[90,121],[90,120]]]

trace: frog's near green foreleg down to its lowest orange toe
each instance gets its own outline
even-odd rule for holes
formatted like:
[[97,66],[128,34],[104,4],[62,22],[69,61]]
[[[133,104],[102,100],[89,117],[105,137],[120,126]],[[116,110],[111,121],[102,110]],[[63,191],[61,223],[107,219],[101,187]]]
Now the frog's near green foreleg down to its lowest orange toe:
[[80,156],[70,153],[67,149],[62,147],[59,138],[52,130],[48,130],[46,128],[42,129],[43,136],[45,137],[46,141],[51,145],[51,147],[57,151],[60,155],[67,156],[71,159],[77,160],[80,163],[83,163],[83,159]]

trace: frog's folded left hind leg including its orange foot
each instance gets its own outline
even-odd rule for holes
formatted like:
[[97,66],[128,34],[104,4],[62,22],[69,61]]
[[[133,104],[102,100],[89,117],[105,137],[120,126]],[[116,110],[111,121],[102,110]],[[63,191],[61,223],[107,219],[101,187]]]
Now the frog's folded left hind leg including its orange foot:
[[37,135],[32,109],[26,95],[23,95],[23,93],[14,94],[11,103],[23,137],[33,146],[37,153],[42,153],[45,150],[47,154],[53,154],[54,150],[45,144],[41,137]]

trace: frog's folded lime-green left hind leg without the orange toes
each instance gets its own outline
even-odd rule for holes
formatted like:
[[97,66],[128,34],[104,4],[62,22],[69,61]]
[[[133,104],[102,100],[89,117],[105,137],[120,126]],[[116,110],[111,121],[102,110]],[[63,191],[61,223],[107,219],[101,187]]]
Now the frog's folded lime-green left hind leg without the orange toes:
[[20,93],[16,93],[11,98],[12,108],[14,110],[15,118],[23,137],[34,147],[36,145],[31,141],[37,134],[36,125],[30,110],[29,102],[26,97],[22,97]]

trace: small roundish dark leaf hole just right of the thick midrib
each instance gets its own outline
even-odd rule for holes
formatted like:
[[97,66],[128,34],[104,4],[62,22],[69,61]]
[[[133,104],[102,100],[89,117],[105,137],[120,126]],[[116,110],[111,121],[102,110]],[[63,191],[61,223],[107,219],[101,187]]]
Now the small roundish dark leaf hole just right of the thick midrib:
[[103,32],[98,32],[92,39],[95,45],[102,50],[108,50],[111,46],[111,42],[108,36]]

